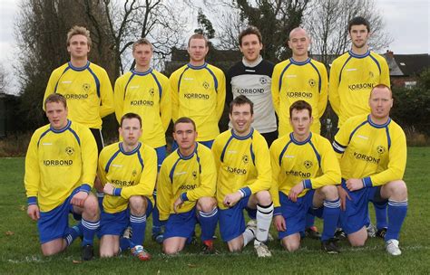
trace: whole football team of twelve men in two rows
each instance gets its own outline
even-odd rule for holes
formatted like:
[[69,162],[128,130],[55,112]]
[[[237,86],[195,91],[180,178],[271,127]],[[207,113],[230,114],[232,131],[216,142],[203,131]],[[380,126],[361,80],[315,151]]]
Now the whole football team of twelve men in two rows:
[[[152,44],[140,39],[132,45],[134,68],[112,90],[106,71],[88,61],[90,32],[74,26],[70,62],[52,72],[45,90],[49,124],[34,132],[25,158],[27,213],[37,221],[43,254],[80,237],[88,261],[97,236],[100,257],[130,250],[149,260],[143,243],[151,214],[152,240],[165,254],[197,242],[196,232],[202,252],[218,253],[219,224],[229,251],[253,242],[259,257],[270,257],[273,224],[288,251],[304,237],[338,253],[339,239],[363,246],[377,236],[400,255],[406,137],[389,117],[389,70],[368,49],[368,22],[353,18],[347,31],[351,50],[332,62],[329,81],[326,66],[308,57],[306,30],[289,33],[292,57],[275,65],[262,59],[261,34],[249,26],[239,34],[243,58],[227,77],[205,62],[201,34],[188,41],[190,62],[169,79],[151,68]],[[328,100],[338,117],[333,142],[319,135]],[[230,129],[220,133],[226,102]],[[120,140],[104,147],[102,118],[112,112]]]

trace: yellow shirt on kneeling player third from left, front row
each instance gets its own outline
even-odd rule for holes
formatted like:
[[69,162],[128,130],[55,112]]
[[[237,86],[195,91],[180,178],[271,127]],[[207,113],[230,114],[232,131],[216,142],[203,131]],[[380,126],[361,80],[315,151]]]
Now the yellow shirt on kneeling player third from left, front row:
[[213,197],[217,172],[210,148],[196,143],[190,156],[182,156],[179,149],[164,159],[157,184],[157,207],[160,220],[174,212],[173,203],[181,196],[178,213],[190,212],[200,197]]

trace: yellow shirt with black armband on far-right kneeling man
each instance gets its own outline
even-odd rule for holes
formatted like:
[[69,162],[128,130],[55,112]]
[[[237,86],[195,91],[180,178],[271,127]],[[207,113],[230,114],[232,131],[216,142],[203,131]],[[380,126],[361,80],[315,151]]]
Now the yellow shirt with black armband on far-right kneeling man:
[[366,187],[385,185],[403,178],[406,137],[392,119],[378,125],[369,115],[348,119],[335,137],[342,178],[363,179]]

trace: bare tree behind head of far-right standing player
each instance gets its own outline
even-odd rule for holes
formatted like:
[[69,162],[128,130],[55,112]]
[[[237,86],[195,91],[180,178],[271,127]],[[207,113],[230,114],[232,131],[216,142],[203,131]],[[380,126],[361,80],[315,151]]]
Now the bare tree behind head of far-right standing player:
[[350,48],[347,24],[355,16],[365,17],[371,28],[370,47],[383,50],[392,38],[384,32],[382,14],[376,9],[374,0],[320,0],[313,1],[305,17],[305,26],[312,37],[312,52],[329,64],[333,57]]

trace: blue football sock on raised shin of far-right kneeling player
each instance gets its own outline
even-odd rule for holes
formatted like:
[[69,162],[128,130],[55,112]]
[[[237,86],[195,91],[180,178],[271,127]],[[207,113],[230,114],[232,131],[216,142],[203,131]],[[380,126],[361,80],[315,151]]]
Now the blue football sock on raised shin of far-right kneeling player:
[[407,213],[407,200],[403,202],[388,201],[388,229],[386,230],[386,241],[398,240],[400,228],[405,221]]

